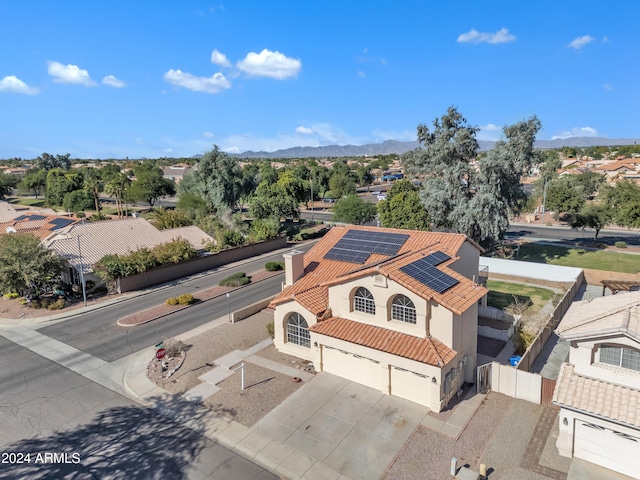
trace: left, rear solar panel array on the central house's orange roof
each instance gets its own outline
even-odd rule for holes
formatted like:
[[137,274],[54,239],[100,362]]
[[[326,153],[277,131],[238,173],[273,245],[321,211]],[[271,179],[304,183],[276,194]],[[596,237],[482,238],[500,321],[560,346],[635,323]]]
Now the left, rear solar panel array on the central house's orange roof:
[[326,260],[359,263],[367,261],[369,255],[377,253],[392,256],[407,241],[409,235],[403,233],[376,232],[373,230],[349,230],[329,250]]

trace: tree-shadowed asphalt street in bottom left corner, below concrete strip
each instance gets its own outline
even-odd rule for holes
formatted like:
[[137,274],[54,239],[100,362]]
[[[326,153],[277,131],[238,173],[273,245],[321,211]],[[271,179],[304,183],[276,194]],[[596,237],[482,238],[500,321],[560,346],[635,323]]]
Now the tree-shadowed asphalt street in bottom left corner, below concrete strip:
[[0,479],[278,478],[2,337],[0,364]]

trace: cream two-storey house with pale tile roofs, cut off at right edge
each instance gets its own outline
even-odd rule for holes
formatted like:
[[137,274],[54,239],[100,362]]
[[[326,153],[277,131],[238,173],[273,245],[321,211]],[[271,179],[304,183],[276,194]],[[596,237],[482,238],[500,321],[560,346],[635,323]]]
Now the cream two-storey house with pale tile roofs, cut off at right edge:
[[576,302],[556,332],[571,345],[553,395],[560,455],[640,478],[640,292]]

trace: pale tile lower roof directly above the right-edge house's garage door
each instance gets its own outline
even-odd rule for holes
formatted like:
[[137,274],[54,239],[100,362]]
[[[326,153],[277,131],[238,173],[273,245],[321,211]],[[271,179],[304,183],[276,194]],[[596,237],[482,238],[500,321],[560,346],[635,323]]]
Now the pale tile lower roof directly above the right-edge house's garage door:
[[634,428],[640,427],[640,391],[578,375],[569,363],[560,368],[553,403]]

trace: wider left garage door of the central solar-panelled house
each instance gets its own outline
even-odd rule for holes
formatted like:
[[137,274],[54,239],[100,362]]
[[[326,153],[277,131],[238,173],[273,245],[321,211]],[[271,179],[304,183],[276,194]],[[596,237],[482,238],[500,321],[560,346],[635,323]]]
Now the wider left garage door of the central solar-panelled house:
[[380,362],[327,346],[322,349],[322,369],[376,390],[384,375]]

